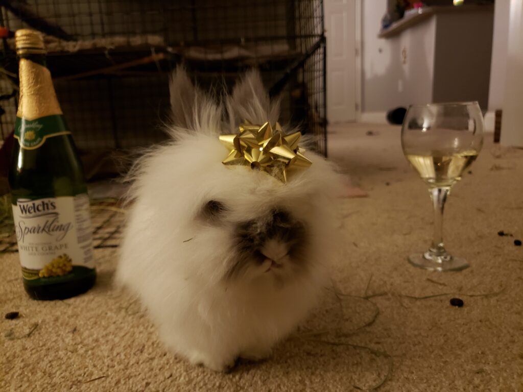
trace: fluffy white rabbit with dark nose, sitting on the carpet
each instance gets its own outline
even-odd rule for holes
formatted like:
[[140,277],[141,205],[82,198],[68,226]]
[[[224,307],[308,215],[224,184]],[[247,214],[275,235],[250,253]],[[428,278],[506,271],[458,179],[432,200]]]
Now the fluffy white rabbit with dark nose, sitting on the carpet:
[[258,72],[214,102],[183,69],[170,82],[172,141],[131,174],[117,282],[138,295],[161,340],[191,363],[258,360],[317,303],[335,257],[340,176],[313,152],[286,184],[225,166],[221,133],[278,121]]

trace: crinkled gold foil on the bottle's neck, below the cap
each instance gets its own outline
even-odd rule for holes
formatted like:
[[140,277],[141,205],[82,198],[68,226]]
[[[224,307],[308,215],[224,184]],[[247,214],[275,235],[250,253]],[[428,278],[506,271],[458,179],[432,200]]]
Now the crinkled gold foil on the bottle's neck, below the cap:
[[46,56],[24,53],[18,57],[20,100],[17,117],[34,120],[62,114],[51,73],[46,66]]

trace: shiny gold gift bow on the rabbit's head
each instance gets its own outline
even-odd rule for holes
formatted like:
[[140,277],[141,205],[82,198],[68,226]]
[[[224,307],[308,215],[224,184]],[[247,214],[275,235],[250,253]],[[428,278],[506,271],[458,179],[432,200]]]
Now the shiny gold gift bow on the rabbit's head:
[[220,141],[230,150],[223,160],[224,165],[249,165],[251,169],[265,171],[283,183],[287,183],[287,170],[308,168],[312,162],[298,147],[301,133],[284,136],[277,122],[275,131],[269,122],[263,125],[241,124],[238,133],[221,135]]

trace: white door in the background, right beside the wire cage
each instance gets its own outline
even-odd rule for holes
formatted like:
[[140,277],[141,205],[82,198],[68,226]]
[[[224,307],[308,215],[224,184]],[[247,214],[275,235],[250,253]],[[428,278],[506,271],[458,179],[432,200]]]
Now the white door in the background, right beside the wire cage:
[[[325,0],[327,120],[356,121],[356,7],[358,0]],[[358,34],[359,36],[359,34]]]

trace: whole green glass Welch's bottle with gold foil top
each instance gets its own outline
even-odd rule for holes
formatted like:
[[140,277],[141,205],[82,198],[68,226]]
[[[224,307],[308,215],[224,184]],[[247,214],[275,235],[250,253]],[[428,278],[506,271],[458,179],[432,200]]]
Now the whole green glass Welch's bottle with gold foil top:
[[22,29],[15,41],[20,100],[9,186],[22,278],[32,298],[69,298],[96,280],[87,187],[43,38]]

